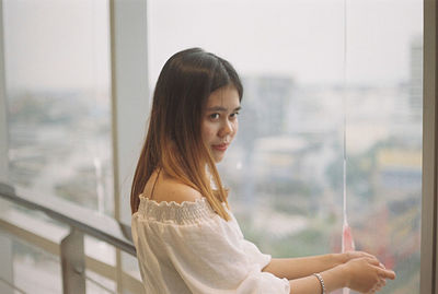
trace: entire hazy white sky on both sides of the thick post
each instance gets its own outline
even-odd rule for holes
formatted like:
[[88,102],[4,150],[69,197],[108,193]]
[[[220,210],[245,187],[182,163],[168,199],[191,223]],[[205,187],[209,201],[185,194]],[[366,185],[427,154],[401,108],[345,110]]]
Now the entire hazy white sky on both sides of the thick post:
[[[187,47],[242,75],[333,84],[345,70],[350,83],[399,83],[423,33],[422,0],[148,0],[147,16],[150,85]],[[107,86],[107,1],[5,0],[3,23],[10,87]]]

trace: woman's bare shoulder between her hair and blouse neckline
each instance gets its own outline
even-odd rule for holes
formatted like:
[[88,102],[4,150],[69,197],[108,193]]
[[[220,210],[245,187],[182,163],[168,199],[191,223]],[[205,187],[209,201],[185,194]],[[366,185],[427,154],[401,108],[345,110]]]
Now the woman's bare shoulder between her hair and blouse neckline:
[[161,179],[154,191],[152,199],[157,202],[176,202],[182,203],[184,201],[195,202],[197,199],[203,198],[201,193],[194,188],[182,184],[181,181],[174,179]]

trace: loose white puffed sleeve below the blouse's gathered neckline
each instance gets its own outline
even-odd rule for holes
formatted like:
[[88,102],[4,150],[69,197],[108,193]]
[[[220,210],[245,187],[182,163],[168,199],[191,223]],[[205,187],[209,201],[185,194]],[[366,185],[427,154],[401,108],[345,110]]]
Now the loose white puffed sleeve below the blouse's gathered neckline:
[[262,272],[270,261],[216,216],[198,224],[162,224],[164,249],[192,293],[289,293],[289,281]]

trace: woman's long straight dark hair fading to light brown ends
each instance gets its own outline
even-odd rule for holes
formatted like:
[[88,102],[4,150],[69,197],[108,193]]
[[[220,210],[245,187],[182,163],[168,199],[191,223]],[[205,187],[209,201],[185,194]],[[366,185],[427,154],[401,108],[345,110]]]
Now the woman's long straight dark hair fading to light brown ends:
[[[160,167],[198,190],[221,217],[230,219],[221,204],[228,207],[227,191],[200,134],[201,110],[208,96],[227,85],[234,86],[242,99],[242,83],[233,67],[200,48],[180,51],[165,62],[153,93],[149,129],[134,176],[131,213],[138,210],[139,195]],[[211,188],[208,173],[217,190]]]

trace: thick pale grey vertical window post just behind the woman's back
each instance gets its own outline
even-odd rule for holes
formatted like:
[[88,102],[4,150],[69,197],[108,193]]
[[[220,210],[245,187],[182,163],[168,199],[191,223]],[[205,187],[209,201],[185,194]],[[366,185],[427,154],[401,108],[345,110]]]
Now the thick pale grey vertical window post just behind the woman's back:
[[[148,116],[147,1],[110,0],[114,217],[130,223],[130,184]],[[117,293],[123,255],[116,250]]]

